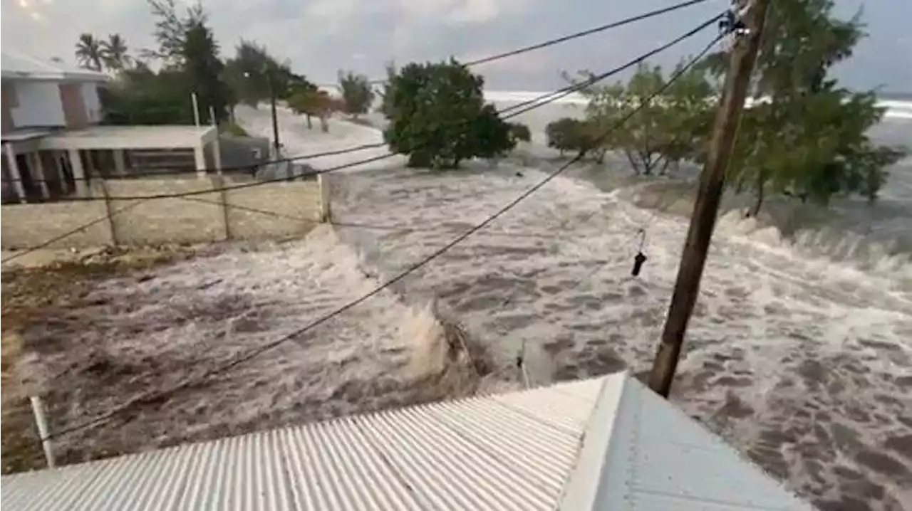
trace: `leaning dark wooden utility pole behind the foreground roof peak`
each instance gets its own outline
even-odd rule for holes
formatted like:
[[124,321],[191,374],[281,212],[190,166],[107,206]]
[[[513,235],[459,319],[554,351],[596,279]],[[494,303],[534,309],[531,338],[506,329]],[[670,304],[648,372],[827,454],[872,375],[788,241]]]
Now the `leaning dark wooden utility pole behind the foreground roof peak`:
[[[729,70],[712,128],[710,151],[700,174],[700,189],[690,218],[662,342],[656,353],[652,373],[649,374],[649,388],[666,398],[678,368],[684,333],[700,294],[700,278],[716,224],[725,173],[731,160],[770,2],[771,0],[748,0],[748,5],[734,13],[733,19],[730,19],[736,23],[728,26],[735,37],[729,56]],[[732,7],[736,8],[735,5]]]

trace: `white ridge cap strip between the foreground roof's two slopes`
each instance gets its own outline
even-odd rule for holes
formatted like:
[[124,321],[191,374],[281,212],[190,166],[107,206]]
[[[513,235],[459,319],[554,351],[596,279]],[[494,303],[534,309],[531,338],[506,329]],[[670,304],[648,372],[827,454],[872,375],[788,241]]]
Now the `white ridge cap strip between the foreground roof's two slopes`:
[[629,381],[627,371],[609,374],[604,378],[596,405],[580,438],[576,462],[566,478],[558,500],[557,511],[596,509],[596,497],[603,494],[603,484],[606,481],[617,481],[616,478],[606,477],[605,472],[611,465],[611,440],[617,422],[630,420],[624,414],[617,413],[622,402],[630,399],[626,392]]

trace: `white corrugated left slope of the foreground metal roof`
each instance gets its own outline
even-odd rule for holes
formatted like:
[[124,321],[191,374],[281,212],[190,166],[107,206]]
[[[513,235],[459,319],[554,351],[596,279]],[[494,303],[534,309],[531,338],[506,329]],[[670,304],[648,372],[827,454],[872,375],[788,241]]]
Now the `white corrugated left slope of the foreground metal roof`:
[[553,509],[600,385],[565,383],[0,477],[0,509]]

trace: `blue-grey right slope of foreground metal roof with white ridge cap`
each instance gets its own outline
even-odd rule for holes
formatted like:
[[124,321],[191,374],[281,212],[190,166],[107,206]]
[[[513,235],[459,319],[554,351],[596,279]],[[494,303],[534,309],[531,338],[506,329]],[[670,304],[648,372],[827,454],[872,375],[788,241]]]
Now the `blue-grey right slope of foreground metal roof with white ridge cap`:
[[637,380],[606,387],[561,509],[814,510]]

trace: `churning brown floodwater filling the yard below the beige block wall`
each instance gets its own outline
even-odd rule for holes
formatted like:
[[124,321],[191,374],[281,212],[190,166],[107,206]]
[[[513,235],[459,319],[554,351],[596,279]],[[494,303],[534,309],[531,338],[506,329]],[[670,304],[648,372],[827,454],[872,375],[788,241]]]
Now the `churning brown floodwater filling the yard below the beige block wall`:
[[57,438],[61,463],[440,399],[440,324],[389,291],[211,373],[377,286],[329,226],[233,246],[101,282],[81,306],[47,311],[24,333],[21,369],[43,387],[57,432],[194,382]]

